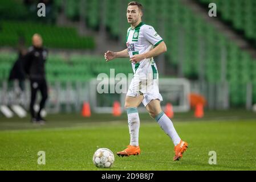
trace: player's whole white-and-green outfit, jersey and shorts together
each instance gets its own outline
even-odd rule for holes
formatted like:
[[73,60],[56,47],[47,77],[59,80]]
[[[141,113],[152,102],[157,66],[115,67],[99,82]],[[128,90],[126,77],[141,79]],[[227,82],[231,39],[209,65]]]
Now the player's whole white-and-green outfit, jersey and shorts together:
[[[154,28],[143,22],[133,29],[128,28],[127,48],[130,57],[146,53],[162,41]],[[152,100],[162,101],[162,96],[159,93],[157,67],[153,57],[141,60],[140,63],[132,63],[132,68],[134,75],[127,96],[137,97],[143,94],[144,106],[147,106]]]

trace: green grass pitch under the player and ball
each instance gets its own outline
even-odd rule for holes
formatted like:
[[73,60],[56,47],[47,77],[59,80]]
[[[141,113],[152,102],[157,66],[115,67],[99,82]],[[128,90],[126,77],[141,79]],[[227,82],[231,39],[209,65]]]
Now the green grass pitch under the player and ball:
[[[176,162],[169,137],[153,119],[141,114],[141,155],[115,155],[113,167],[107,169],[95,167],[92,156],[99,147],[115,154],[128,145],[125,114],[117,118],[50,115],[45,126],[32,125],[28,118],[1,117],[0,170],[255,170],[256,114],[241,111],[237,117],[232,113],[210,112],[204,119],[193,119],[192,113],[175,115],[174,126],[189,143]],[[45,165],[38,165],[38,151],[46,152]],[[217,152],[216,165],[208,163],[209,151]]]

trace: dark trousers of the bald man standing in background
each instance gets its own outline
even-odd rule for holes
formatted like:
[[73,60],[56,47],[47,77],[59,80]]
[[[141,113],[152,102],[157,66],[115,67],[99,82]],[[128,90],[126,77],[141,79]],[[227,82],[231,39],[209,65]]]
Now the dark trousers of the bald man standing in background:
[[[30,89],[31,89],[31,100],[30,100],[30,114],[32,118],[40,117],[40,112],[44,108],[46,103],[48,93],[47,93],[47,84],[45,79],[30,79]],[[40,101],[40,108],[38,114],[35,114],[34,105],[36,101],[36,93],[40,91],[42,100]]]

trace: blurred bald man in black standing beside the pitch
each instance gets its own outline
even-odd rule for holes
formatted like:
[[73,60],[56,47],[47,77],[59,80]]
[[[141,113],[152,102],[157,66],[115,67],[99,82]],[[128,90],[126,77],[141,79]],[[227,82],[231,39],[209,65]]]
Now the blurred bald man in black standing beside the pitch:
[[[25,72],[29,76],[31,100],[30,100],[30,114],[31,122],[41,123],[45,122],[45,119],[41,117],[41,111],[44,108],[48,97],[45,63],[47,59],[48,51],[43,47],[43,39],[39,34],[32,36],[32,46],[29,48],[25,59],[24,68]],[[38,113],[35,113],[34,105],[36,101],[36,93],[40,91],[42,100],[40,101],[40,107]]]

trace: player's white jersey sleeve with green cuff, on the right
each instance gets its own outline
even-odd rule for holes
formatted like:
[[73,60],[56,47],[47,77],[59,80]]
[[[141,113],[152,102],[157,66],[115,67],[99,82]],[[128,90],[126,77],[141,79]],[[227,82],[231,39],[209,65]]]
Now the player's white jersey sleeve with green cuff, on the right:
[[152,26],[147,26],[143,31],[144,38],[148,40],[152,45],[157,46],[164,41]]

